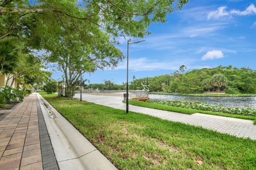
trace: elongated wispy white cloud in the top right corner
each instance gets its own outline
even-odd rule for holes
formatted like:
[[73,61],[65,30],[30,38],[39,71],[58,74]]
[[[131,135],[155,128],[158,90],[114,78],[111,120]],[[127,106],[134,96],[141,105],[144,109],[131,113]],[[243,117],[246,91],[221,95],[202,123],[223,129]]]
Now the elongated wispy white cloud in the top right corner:
[[211,11],[207,15],[207,19],[219,19],[223,16],[232,16],[232,15],[256,15],[256,7],[254,4],[249,5],[244,11],[240,10],[231,10],[226,11],[227,6],[220,6],[218,10]]

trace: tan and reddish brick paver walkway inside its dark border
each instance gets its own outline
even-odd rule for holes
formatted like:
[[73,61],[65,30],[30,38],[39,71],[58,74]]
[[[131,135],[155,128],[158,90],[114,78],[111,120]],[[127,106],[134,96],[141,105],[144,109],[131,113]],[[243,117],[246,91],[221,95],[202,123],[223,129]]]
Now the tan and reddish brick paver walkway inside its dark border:
[[0,121],[0,169],[43,169],[36,94]]

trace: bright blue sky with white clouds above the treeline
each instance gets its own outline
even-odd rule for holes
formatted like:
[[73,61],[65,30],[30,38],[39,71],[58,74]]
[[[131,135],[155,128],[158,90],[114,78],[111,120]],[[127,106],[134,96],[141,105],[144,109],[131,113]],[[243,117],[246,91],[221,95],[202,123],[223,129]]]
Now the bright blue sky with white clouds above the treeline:
[[[150,36],[130,46],[129,80],[170,74],[184,64],[188,71],[218,65],[256,69],[256,1],[191,0],[164,24],[153,23]],[[141,39],[133,39],[137,41]],[[126,57],[126,40],[118,47]],[[126,60],[114,70],[84,74],[91,83],[126,80]],[[60,78],[54,72],[53,78]]]

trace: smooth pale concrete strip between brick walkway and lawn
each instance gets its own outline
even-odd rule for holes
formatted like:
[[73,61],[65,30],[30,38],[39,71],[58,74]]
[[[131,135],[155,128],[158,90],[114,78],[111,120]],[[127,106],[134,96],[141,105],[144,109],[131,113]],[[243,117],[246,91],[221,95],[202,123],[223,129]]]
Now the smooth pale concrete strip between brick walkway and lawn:
[[60,169],[117,169],[42,96],[38,95]]

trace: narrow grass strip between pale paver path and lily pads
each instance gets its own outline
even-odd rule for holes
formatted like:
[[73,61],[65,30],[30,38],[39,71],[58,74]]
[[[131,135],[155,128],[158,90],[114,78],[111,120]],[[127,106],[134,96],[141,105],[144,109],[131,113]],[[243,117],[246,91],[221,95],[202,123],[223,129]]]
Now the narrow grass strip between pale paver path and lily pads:
[[[125,101],[123,101],[123,102],[125,103]],[[141,107],[155,108],[155,109],[159,109],[159,110],[163,110],[163,111],[185,113],[185,114],[189,114],[189,115],[194,114],[194,113],[204,113],[204,114],[217,115],[217,116],[242,118],[242,119],[246,119],[246,120],[252,120],[252,121],[254,121],[254,124],[256,124],[256,117],[255,116],[234,115],[234,114],[211,112],[211,111],[200,111],[200,110],[196,110],[196,109],[167,106],[167,105],[156,104],[156,103],[148,103],[148,102],[145,102],[145,101],[138,101],[138,100],[130,100],[129,104],[130,105],[135,105],[135,106],[141,106]]]

